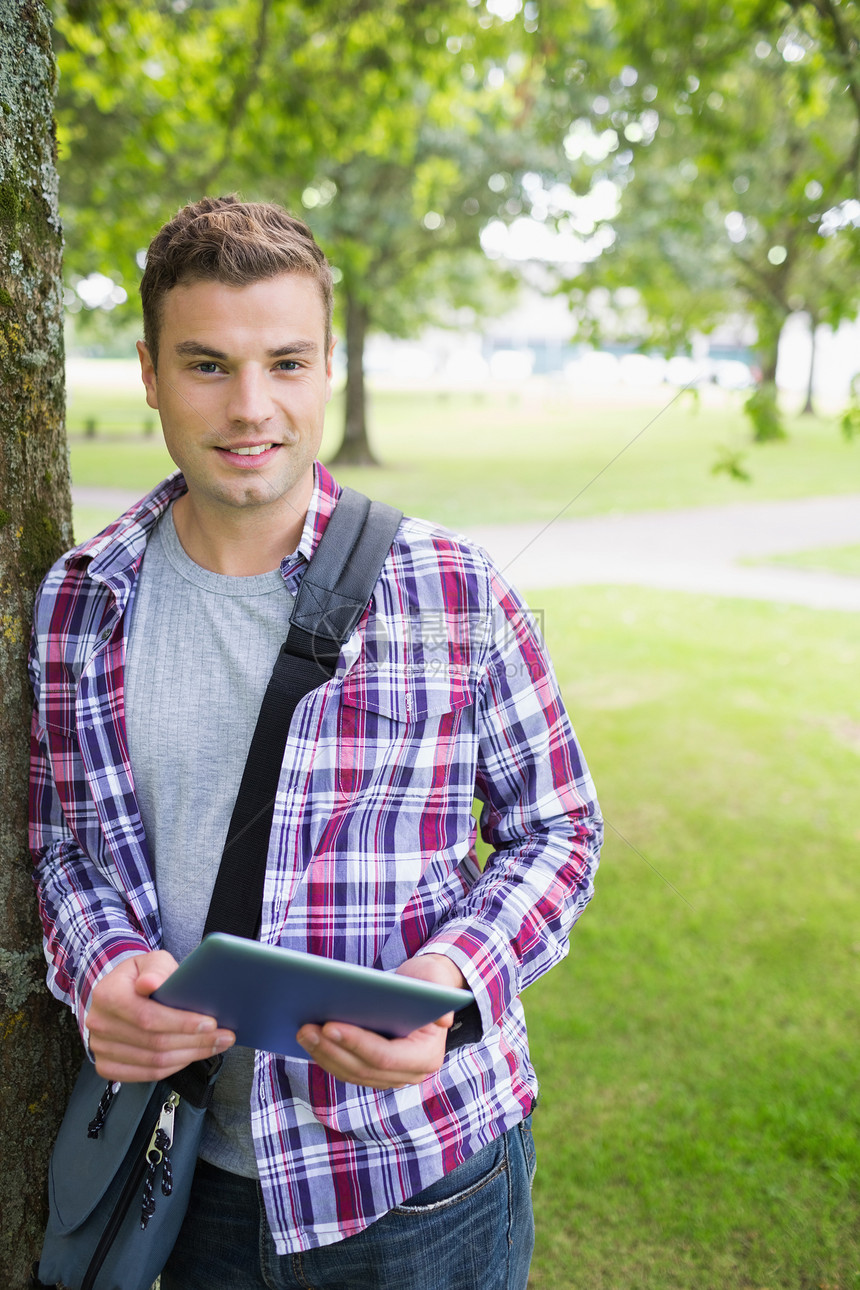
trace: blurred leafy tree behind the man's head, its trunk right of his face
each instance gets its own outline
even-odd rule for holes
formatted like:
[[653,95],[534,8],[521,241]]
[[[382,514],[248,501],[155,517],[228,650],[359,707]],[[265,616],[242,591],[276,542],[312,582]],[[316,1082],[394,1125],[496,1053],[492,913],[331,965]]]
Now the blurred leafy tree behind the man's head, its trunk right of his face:
[[343,284],[340,459],[371,462],[367,330],[480,311],[504,286],[480,231],[508,200],[489,177],[531,164],[514,27],[462,0],[115,0],[55,18],[72,289],[97,271],[124,304],[153,231],[206,191],[307,212]]

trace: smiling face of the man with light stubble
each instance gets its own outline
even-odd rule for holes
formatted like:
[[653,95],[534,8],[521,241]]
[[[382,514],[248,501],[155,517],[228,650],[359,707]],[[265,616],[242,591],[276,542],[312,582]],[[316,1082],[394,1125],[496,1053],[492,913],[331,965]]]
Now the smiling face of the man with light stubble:
[[195,507],[231,519],[269,507],[284,524],[304,516],[331,396],[331,350],[307,275],[248,286],[199,281],[166,294],[157,373],[147,347],[138,351],[147,402],[159,410]]

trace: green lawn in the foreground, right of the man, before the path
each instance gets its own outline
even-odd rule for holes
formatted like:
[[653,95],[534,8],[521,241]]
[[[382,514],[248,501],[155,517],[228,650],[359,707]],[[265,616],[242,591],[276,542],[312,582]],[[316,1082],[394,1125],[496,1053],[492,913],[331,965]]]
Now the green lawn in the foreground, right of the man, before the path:
[[610,827],[526,995],[531,1285],[860,1286],[856,617],[533,604]]

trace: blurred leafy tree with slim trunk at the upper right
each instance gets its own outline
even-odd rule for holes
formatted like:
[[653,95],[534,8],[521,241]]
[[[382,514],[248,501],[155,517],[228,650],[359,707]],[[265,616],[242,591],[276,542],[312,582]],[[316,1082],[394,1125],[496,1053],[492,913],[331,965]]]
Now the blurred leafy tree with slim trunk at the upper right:
[[857,6],[633,0],[584,54],[563,37],[569,9],[547,9],[547,75],[561,84],[574,68],[596,93],[566,147],[619,192],[605,253],[563,284],[571,306],[598,335],[605,292],[620,293],[627,337],[669,352],[750,319],[761,384],[748,412],[756,440],[779,439],[787,319],[803,311],[815,333],[860,308]]

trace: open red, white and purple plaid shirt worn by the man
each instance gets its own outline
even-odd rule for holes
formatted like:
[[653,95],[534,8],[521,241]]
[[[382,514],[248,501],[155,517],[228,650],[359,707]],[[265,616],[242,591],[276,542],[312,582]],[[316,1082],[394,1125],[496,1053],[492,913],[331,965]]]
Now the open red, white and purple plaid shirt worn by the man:
[[[61,559],[34,628],[31,846],[52,991],[85,1013],[161,928],[122,707],[147,538],[181,475]],[[295,592],[339,488],[320,466]],[[205,731],[201,731],[205,738]],[[474,857],[472,802],[494,848]],[[551,664],[487,557],[404,520],[334,677],[299,703],[275,808],[260,939],[393,969],[444,953],[482,1035],[392,1090],[258,1053],[251,1124],[279,1253],[339,1241],[516,1125],[536,1094],[520,993],[567,952],[601,822]]]

